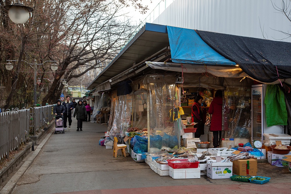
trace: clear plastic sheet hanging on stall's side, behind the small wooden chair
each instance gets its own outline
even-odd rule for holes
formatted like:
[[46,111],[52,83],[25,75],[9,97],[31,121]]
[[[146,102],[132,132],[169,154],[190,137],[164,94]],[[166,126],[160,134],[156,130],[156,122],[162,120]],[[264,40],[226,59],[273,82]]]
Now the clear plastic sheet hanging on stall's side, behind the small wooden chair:
[[113,124],[109,131],[110,136],[125,137],[128,127],[131,127],[132,95],[122,95],[116,98]]

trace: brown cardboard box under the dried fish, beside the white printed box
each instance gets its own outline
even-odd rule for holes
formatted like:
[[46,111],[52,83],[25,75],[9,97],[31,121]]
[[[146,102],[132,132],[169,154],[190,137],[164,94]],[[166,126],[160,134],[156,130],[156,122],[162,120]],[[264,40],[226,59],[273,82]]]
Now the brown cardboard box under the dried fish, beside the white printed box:
[[233,174],[239,176],[256,176],[258,170],[258,163],[255,159],[235,160],[233,161]]

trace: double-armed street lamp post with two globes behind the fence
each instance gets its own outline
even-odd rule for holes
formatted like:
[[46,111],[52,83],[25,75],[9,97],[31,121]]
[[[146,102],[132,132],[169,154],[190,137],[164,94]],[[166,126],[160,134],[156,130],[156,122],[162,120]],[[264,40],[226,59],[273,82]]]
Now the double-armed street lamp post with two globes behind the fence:
[[[6,60],[6,61],[8,61],[8,63],[6,63],[5,64],[5,68],[7,69],[7,70],[12,70],[12,68],[13,68],[13,63],[11,63],[11,61],[18,61],[18,60]],[[24,61],[24,60],[21,60],[21,61],[23,61],[23,62],[25,62],[25,63],[27,63],[27,64],[29,64],[30,66],[31,65],[33,65],[33,66],[31,66],[32,68],[33,68],[33,70],[34,70],[34,84],[33,84],[33,95],[34,95],[34,106],[36,106],[36,88],[37,88],[37,85],[36,85],[36,83],[38,83],[38,84],[40,84],[40,78],[38,78],[37,80],[36,80],[36,70],[37,70],[37,65],[43,65],[43,64],[45,64],[46,62],[56,62],[56,60],[47,60],[47,61],[45,61],[45,62],[43,62],[43,63],[39,63],[39,64],[37,64],[36,63],[36,60],[34,60],[33,61],[33,63],[28,63],[28,62],[26,62],[26,61]],[[53,63],[52,65],[51,65],[51,69],[53,70],[53,69],[55,69],[55,66],[56,66],[56,64],[55,63]],[[66,82],[67,83],[67,82]]]

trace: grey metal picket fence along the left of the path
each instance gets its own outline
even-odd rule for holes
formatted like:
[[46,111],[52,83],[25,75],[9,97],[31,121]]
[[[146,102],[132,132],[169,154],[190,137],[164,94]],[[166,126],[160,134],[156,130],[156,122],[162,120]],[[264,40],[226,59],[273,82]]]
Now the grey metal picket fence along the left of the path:
[[[54,118],[54,105],[36,108],[15,109],[0,113],[0,159],[9,158],[9,152],[18,150],[29,139],[29,132],[35,135],[41,127]],[[35,116],[33,116],[35,115]]]

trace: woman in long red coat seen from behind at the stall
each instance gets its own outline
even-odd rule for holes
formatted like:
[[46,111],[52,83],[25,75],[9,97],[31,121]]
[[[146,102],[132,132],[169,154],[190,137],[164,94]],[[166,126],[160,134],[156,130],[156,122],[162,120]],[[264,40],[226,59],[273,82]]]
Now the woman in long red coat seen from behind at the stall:
[[217,90],[208,113],[212,115],[210,131],[213,132],[213,146],[219,147],[222,129],[222,90]]

